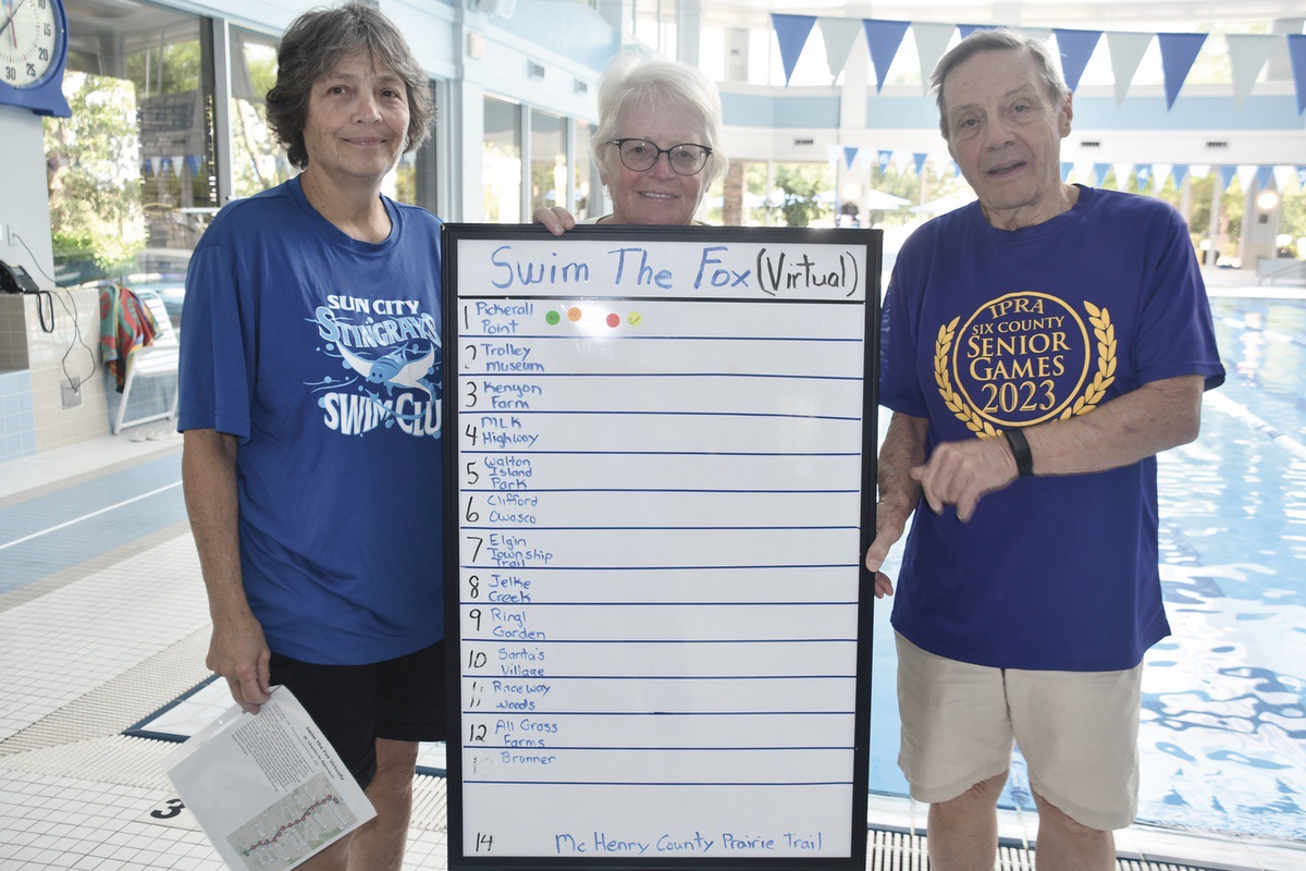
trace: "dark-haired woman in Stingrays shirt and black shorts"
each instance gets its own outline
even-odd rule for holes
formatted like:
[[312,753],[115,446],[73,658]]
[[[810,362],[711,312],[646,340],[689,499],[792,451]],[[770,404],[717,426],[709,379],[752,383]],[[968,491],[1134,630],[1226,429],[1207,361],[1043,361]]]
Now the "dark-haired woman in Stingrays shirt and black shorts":
[[418,742],[443,738],[440,222],[380,191],[432,99],[350,3],[291,24],[268,114],[303,172],[223,208],[187,274],[208,665],[251,713],[286,686],[376,808],[300,867],[398,871]]

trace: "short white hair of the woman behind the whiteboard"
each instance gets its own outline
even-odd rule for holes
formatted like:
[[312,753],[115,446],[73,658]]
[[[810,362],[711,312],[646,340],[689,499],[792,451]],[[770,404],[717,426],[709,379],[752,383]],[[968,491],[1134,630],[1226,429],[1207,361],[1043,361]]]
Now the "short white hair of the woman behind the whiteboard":
[[609,64],[598,86],[598,129],[590,150],[605,176],[615,167],[615,149],[607,144],[620,135],[626,110],[640,103],[680,106],[695,115],[707,138],[699,145],[712,149],[703,170],[707,185],[725,175],[729,159],[721,150],[721,91],[716,84],[688,64],[631,50]]

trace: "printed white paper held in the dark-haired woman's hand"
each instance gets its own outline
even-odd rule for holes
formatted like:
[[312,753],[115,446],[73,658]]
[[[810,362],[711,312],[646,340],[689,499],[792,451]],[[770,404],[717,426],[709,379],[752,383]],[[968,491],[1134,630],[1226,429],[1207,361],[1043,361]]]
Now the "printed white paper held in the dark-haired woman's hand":
[[163,768],[232,868],[293,868],[376,816],[285,687],[273,687],[257,714],[232,705],[168,753]]

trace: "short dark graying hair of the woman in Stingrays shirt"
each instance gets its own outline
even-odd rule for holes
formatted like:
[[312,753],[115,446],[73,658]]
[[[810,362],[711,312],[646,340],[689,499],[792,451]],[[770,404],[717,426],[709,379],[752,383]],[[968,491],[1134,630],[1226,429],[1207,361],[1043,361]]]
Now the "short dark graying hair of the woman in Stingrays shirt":
[[340,59],[366,51],[374,63],[394,71],[407,86],[409,128],[405,151],[417,150],[431,135],[435,98],[426,71],[413,56],[404,34],[366,3],[311,9],[295,18],[277,50],[277,84],[268,91],[268,125],[291,166],[308,166],[304,125],[313,82],[329,74]]

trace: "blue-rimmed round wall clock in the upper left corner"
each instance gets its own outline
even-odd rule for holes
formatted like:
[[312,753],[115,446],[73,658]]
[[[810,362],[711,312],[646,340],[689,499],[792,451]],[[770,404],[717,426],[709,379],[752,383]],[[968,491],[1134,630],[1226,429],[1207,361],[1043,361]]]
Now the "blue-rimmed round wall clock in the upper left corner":
[[68,118],[65,63],[68,14],[63,0],[0,0],[0,103]]

